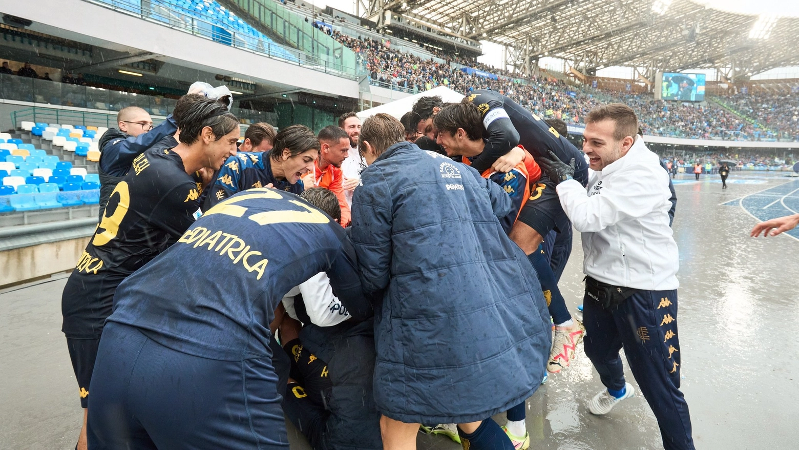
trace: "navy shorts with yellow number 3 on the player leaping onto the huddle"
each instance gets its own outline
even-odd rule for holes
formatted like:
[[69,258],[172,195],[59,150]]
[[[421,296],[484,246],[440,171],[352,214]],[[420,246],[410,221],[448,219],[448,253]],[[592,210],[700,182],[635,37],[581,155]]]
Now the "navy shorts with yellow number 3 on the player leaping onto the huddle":
[[530,197],[519,212],[517,220],[530,225],[541,237],[551,230],[562,232],[570,226],[569,217],[563,211],[555,191],[557,185],[545,174],[530,186]]

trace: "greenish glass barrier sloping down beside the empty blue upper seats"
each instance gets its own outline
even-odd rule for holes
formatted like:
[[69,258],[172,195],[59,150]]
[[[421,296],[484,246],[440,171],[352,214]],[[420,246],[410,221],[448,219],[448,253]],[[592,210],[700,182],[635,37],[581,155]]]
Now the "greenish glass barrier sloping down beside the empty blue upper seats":
[[274,0],[229,0],[280,38],[334,66],[352,68],[359,75],[356,54],[313,26],[313,20],[296,14]]

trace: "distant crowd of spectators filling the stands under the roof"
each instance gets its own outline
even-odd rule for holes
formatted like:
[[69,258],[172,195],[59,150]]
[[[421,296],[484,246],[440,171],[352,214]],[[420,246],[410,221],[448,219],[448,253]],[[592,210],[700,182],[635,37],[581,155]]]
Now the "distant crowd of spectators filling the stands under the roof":
[[[582,118],[594,106],[623,102],[638,113],[647,134],[731,141],[799,140],[796,95],[789,99],[766,98],[768,105],[763,107],[752,97],[737,96],[736,101],[741,102],[740,113],[753,119],[747,121],[710,104],[663,102],[654,100],[651,94],[595,90],[535,75],[518,78],[519,74],[443,52],[436,55],[443,61],[419,58],[392,47],[389,39],[353,38],[338,31],[332,32],[332,38],[358,54],[373,84],[411,94],[436,86],[448,86],[463,94],[491,89],[506,94],[533,113],[557,117],[570,125],[582,124]],[[455,64],[498,75],[498,79],[467,74]],[[773,133],[777,129],[780,133]]]

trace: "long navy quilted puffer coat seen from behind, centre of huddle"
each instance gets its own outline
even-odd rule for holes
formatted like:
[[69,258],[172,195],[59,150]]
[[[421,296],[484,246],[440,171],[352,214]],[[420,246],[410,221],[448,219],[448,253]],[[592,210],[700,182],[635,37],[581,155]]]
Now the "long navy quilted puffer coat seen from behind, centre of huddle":
[[378,411],[467,423],[539,387],[551,325],[538,277],[497,217],[511,200],[475,169],[401,142],[361,173],[352,241],[376,305]]

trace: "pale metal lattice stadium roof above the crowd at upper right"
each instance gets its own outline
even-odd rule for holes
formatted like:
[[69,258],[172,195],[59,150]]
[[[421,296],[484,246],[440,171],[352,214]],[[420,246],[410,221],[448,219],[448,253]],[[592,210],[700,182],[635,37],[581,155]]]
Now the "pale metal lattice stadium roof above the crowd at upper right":
[[543,57],[589,71],[714,68],[728,78],[799,65],[799,18],[735,14],[690,0],[368,1],[372,17],[390,10],[407,21],[507,46],[508,64],[528,70]]

